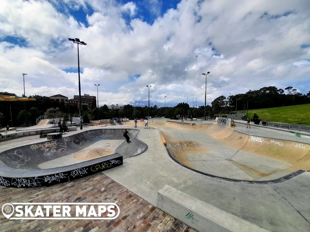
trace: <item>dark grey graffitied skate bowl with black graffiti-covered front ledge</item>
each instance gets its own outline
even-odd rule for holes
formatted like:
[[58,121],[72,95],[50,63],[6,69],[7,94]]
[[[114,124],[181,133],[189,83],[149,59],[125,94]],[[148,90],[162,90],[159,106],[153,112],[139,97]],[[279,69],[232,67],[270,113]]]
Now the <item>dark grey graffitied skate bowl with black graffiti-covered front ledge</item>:
[[41,187],[82,178],[123,164],[148,146],[136,139],[138,130],[96,129],[68,137],[29,144],[0,153],[0,185]]

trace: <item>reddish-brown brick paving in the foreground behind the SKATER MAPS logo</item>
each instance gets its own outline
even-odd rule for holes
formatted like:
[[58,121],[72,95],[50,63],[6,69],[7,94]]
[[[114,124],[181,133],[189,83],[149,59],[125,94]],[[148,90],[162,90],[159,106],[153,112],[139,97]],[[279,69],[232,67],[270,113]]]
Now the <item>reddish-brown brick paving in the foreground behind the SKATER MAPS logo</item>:
[[116,203],[120,208],[120,214],[113,220],[9,220],[1,212],[1,232],[195,232],[103,173],[51,187],[0,187],[0,207],[11,202],[108,202]]

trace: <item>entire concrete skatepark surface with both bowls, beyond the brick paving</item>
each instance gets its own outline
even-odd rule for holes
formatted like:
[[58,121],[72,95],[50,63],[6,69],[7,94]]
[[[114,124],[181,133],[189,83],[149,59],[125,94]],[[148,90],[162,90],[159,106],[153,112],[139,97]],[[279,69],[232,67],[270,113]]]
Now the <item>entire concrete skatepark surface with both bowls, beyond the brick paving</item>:
[[213,121],[122,124],[2,141],[0,176],[55,174],[117,153],[122,165],[104,174],[197,231],[310,231],[307,136]]

